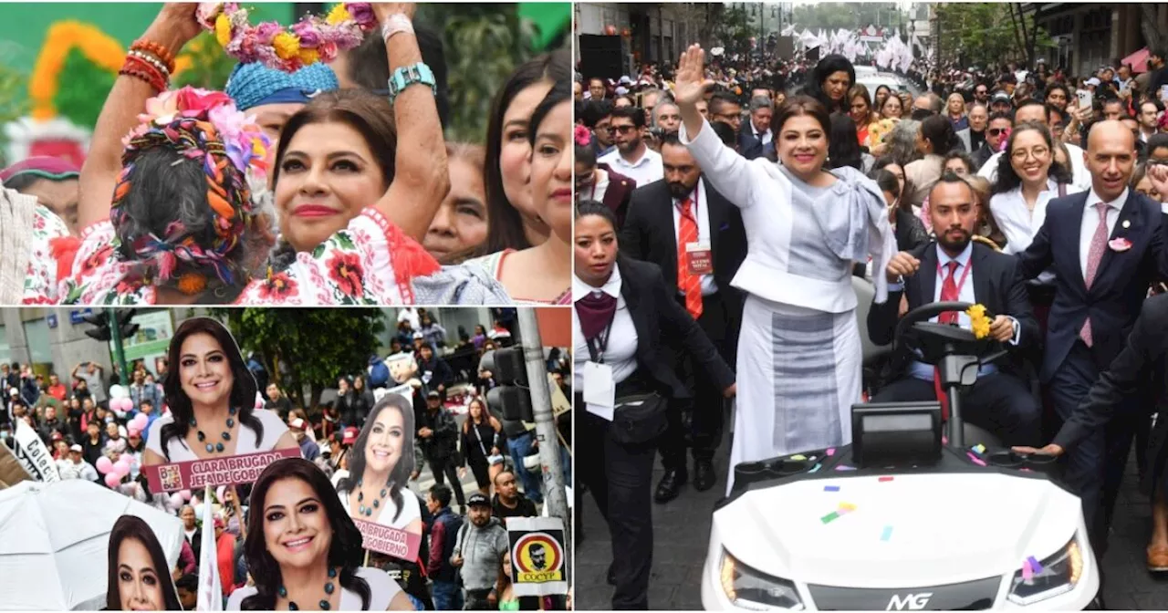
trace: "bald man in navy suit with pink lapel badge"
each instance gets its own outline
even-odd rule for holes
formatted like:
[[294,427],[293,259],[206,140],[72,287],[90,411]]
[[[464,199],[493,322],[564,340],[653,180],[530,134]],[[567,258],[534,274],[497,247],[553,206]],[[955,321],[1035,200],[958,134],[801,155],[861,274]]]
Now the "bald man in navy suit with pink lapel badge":
[[[1100,121],[1091,128],[1084,158],[1090,191],[1051,200],[1030,248],[1017,255],[1023,279],[1055,267],[1041,378],[1063,420],[1124,348],[1153,278],[1168,273],[1161,204],[1127,187],[1135,137],[1119,121]],[[1133,400],[1139,402],[1127,402]],[[1127,430],[1092,432],[1066,457],[1064,479],[1083,499],[1100,557],[1108,523],[1100,492],[1105,472],[1115,474],[1112,480],[1122,475],[1107,464],[1126,461],[1132,440]]]

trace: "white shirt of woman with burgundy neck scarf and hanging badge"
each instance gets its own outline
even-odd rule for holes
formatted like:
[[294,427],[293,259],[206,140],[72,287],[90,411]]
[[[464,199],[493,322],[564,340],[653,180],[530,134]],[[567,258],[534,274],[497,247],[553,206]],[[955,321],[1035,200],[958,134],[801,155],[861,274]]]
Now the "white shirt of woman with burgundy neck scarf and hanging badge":
[[[606,293],[617,299],[617,314],[612,318],[612,328],[609,330],[607,347],[602,354],[605,364],[612,367],[612,381],[620,383],[637,371],[637,327],[633,326],[633,315],[625,304],[625,297],[620,295],[620,269],[612,267],[612,277],[603,287],[592,287],[572,274],[572,297],[576,300],[590,293]],[[588,341],[584,340],[584,330],[580,328],[580,318],[572,308],[572,382],[576,391],[584,391],[584,364],[590,362],[591,355],[588,350]]]

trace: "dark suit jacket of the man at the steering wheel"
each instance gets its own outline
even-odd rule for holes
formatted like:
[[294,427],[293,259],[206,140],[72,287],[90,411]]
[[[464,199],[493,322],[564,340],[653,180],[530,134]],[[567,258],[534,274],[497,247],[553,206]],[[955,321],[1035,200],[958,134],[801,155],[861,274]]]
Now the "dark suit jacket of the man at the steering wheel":
[[[937,295],[937,242],[930,242],[911,253],[920,260],[920,269],[912,277],[904,279],[903,291],[890,291],[887,301],[872,302],[868,312],[868,337],[876,344],[892,342],[896,323],[901,319],[898,311],[902,294],[909,297],[909,311],[937,301],[933,299]],[[1017,278],[1014,258],[980,243],[973,243],[969,262],[973,269],[969,271],[971,279],[966,283],[973,283],[974,299],[995,315],[1009,315],[1017,320],[1018,344],[1013,349],[1015,355],[1021,355],[1021,349],[1038,342],[1040,332],[1038,321],[1034,319],[1034,312],[1030,309],[1026,284]],[[905,353],[897,356],[897,370],[903,369],[908,365],[909,356]],[[1010,367],[1011,364],[1001,364],[1006,370]]]

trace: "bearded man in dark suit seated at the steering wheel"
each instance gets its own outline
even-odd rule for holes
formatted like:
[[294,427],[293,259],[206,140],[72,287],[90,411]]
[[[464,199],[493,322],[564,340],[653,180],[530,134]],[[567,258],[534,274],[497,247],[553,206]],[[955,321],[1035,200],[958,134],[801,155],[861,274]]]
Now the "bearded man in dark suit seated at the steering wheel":
[[[943,176],[930,191],[930,215],[937,241],[911,252],[902,251],[889,263],[889,299],[874,302],[868,312],[868,335],[872,342],[892,341],[901,297],[906,295],[910,311],[950,300],[983,305],[995,315],[992,336],[1016,350],[1037,343],[1038,322],[1026,287],[1017,279],[1014,258],[971,239],[978,223],[978,206],[969,184],[953,174]],[[950,266],[950,262],[957,265]],[[947,276],[953,277],[952,284],[946,283]],[[897,358],[899,377],[880,390],[872,402],[936,399],[933,367],[916,362],[908,351]],[[1042,411],[1015,364],[982,367],[978,382],[962,400],[965,419],[1006,444],[1041,440]]]

